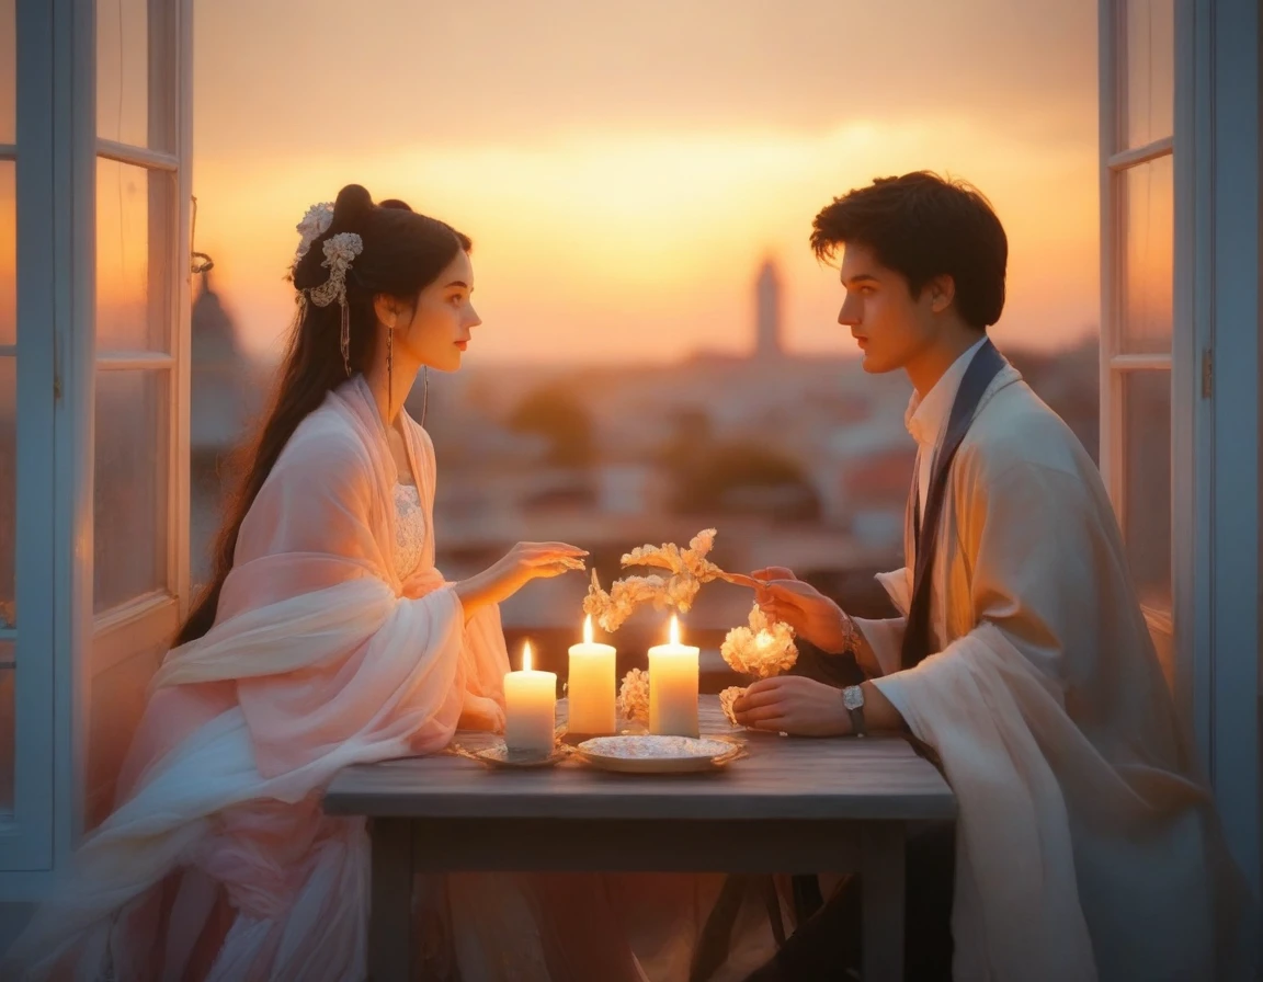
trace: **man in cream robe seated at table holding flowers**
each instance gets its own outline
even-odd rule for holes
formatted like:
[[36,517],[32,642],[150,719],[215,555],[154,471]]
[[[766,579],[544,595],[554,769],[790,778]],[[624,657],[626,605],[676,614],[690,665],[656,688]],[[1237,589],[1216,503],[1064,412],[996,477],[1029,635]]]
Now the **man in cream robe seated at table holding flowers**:
[[[758,682],[738,719],[907,730],[941,762],[959,804],[955,978],[1245,977],[1247,901],[1109,499],[986,337],[1004,307],[999,220],[973,188],[913,173],[835,199],[811,241],[822,259],[842,252],[837,319],[864,369],[903,370],[914,389],[907,567],[879,577],[902,616],[854,618],[788,569],[762,571],[760,606],[868,678],[841,693]],[[762,977],[815,971],[794,967],[802,948],[791,939]]]

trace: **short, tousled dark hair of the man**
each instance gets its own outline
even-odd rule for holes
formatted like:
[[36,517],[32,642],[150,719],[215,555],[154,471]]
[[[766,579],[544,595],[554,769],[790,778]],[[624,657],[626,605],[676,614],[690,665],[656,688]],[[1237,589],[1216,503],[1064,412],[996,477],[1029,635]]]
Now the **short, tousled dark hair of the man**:
[[979,331],[1000,319],[1009,244],[990,202],[962,180],[928,170],[878,178],[826,207],[811,230],[811,247],[832,259],[855,242],[902,273],[913,297],[935,276],[956,284],[956,309]]

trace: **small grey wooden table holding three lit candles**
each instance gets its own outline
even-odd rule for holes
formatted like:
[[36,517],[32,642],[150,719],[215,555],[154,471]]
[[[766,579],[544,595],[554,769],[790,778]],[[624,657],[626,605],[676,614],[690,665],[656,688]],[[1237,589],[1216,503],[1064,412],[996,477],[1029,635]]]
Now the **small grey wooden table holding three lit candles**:
[[[733,732],[715,697],[702,697],[702,732]],[[947,784],[893,736],[743,736],[749,756],[700,775],[608,774],[577,761],[493,771],[450,754],[347,767],[325,810],[373,819],[370,978],[413,978],[416,872],[585,870],[859,872],[864,979],[899,982],[904,828],[955,815]]]

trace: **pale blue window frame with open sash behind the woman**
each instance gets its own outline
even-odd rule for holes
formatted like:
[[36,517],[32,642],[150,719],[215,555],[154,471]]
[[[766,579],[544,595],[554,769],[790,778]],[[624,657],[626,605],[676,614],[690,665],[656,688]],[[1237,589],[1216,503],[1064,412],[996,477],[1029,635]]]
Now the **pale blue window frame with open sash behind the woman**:
[[[111,658],[167,631],[188,605],[188,324],[192,196],[192,3],[149,0],[169,18],[164,72],[172,150],[97,139],[96,9],[80,0],[18,0],[18,358],[14,814],[0,818],[0,901],[40,896],[85,820],[88,687]],[[91,107],[85,111],[85,107]],[[167,582],[155,596],[92,611],[96,372],[125,357],[96,352],[96,162],[125,158],[174,172],[167,265]],[[149,366],[147,366],[149,367]]]

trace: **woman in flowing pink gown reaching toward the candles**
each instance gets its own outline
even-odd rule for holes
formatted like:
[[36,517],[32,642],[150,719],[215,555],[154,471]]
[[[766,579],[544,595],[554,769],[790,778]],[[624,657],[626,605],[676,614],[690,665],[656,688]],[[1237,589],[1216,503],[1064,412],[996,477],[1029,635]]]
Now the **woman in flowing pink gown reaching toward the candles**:
[[[496,605],[582,568],[560,543],[458,583],[434,568],[433,447],[403,403],[422,367],[460,367],[480,323],[470,240],[354,184],[299,231],[299,314],[213,579],[154,678],[116,810],[0,977],[362,978],[365,823],[323,815],[323,786],[457,725],[499,728]],[[529,881],[438,892],[455,932],[512,924],[506,949],[547,971]]]

